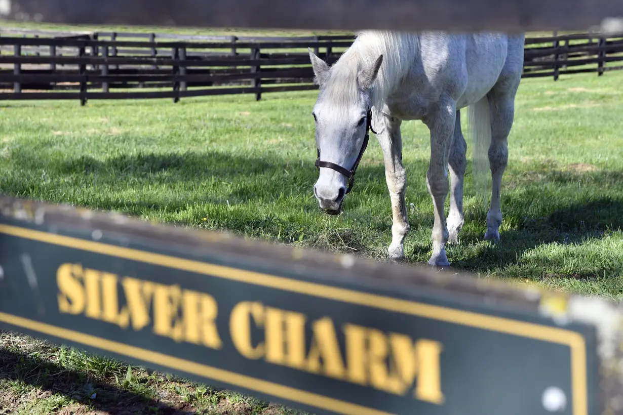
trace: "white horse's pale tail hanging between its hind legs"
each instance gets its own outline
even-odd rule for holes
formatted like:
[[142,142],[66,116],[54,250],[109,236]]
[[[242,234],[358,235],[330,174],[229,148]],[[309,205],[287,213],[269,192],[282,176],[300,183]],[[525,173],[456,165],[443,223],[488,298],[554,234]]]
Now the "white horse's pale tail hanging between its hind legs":
[[478,204],[487,206],[489,146],[491,144],[491,114],[487,95],[468,108],[468,126],[472,135],[472,174]]

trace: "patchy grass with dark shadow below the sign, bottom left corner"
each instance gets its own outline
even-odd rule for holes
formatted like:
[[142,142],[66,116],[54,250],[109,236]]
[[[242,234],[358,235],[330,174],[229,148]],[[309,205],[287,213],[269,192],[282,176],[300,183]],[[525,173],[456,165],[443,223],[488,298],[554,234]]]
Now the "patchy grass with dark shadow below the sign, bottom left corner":
[[0,332],[0,414],[51,413],[297,414],[238,393]]

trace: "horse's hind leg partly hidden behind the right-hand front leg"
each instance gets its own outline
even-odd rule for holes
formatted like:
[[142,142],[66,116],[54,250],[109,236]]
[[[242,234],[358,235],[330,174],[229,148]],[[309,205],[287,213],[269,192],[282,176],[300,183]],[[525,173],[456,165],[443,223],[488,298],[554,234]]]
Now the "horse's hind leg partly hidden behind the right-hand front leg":
[[457,119],[454,123],[454,138],[450,146],[448,168],[450,170],[450,211],[448,213],[447,226],[449,232],[448,243],[459,243],[459,232],[465,223],[463,218],[463,180],[465,177],[465,152],[467,143],[461,131],[461,115],[457,111]]

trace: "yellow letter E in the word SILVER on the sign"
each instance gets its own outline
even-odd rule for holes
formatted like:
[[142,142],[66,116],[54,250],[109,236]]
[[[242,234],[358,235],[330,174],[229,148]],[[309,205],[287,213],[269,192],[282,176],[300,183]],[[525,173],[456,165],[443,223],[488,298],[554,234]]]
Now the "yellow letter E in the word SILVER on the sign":
[[182,340],[183,322],[179,319],[181,289],[179,286],[163,286],[156,284],[153,300],[154,333]]

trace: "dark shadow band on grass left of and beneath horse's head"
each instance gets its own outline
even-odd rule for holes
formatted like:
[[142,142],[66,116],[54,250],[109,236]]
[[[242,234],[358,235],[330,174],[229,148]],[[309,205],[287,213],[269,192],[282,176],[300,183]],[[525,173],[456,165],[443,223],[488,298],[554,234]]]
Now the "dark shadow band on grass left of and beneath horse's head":
[[[98,197],[100,203],[93,205],[93,208],[125,212],[148,208],[174,212],[201,203],[273,202],[277,198],[287,197],[301,202],[307,211],[318,211],[313,197],[313,184],[318,177],[318,170],[313,166],[312,157],[302,167],[300,161],[273,155],[254,157],[217,151],[138,152],[105,159],[80,156],[62,157],[59,160],[36,157],[31,152],[17,150],[12,154],[12,161],[15,166],[22,166],[22,169],[26,167],[26,174],[7,177],[2,183],[6,192],[17,195],[46,193],[54,191],[58,185],[67,184],[72,187],[108,187]],[[426,172],[426,164],[424,161],[411,162],[407,168],[421,176]],[[40,170],[44,170],[47,177],[53,178],[47,189],[42,188],[44,185],[41,183]],[[391,212],[384,174],[384,166],[359,167],[353,192],[356,196],[351,194],[346,198],[345,208],[356,208],[357,203],[370,197],[383,197],[388,212]],[[147,195],[140,201],[114,200],[110,192],[110,189],[124,188],[140,191],[150,186],[166,186],[171,191],[162,197]]]

